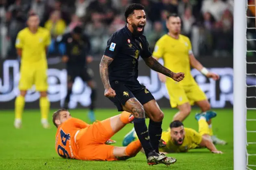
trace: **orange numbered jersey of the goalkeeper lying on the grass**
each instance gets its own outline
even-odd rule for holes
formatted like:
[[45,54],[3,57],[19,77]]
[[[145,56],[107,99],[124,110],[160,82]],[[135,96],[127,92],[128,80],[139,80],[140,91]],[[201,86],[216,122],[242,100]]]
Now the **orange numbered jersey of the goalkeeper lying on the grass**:
[[78,159],[75,136],[78,130],[88,126],[89,124],[76,118],[70,118],[62,123],[55,136],[56,152],[63,158]]

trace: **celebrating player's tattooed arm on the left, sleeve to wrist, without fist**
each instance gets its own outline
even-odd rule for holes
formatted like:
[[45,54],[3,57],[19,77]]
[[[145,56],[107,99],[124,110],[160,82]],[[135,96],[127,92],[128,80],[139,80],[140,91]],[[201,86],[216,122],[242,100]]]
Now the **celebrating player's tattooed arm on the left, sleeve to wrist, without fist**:
[[100,78],[105,89],[110,88],[109,79],[108,79],[108,66],[112,61],[113,59],[111,57],[103,55],[100,62]]

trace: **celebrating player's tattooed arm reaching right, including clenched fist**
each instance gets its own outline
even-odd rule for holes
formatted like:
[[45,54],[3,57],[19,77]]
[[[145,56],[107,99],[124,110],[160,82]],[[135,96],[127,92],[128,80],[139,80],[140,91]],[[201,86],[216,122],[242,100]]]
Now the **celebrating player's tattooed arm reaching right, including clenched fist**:
[[160,72],[168,77],[171,77],[175,81],[181,81],[184,78],[184,73],[174,73],[168,68],[162,66],[156,59],[154,59],[152,56],[148,58],[143,58],[147,66],[149,66],[152,70],[156,72]]

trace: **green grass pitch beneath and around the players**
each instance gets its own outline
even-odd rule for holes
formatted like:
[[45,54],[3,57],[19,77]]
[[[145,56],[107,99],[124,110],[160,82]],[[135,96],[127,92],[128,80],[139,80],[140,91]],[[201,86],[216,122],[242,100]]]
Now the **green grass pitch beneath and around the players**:
[[[169,123],[176,113],[176,110],[163,109],[165,118],[163,121],[163,130],[166,130]],[[184,121],[186,127],[198,130],[197,121],[194,118],[193,109],[191,115]],[[210,153],[207,149],[194,149],[188,153],[168,154],[178,159],[171,166],[159,164],[148,166],[145,155],[139,153],[136,157],[126,161],[80,161],[62,159],[57,155],[54,149],[56,128],[51,125],[50,129],[43,129],[40,123],[39,110],[25,110],[23,114],[22,129],[16,130],[13,127],[13,110],[1,110],[0,113],[0,169],[6,170],[37,170],[37,169],[87,169],[87,170],[117,170],[117,169],[182,169],[182,170],[232,170],[233,169],[233,114],[231,109],[215,110],[217,117],[213,119],[213,131],[219,138],[228,141],[226,146],[217,146],[217,149],[223,151],[223,155]],[[53,113],[54,110],[51,110]],[[87,119],[87,110],[71,110],[73,117],[85,120]],[[103,120],[113,115],[117,115],[116,110],[98,109],[96,118]],[[256,119],[255,112],[249,112],[250,119]],[[51,122],[51,120],[49,119]],[[132,124],[126,125],[119,131],[113,140],[117,140],[116,146],[121,146],[121,142],[126,133],[128,133]],[[256,130],[253,122],[247,123],[247,130]],[[248,142],[255,142],[255,134],[248,134]],[[256,145],[248,147],[249,153],[256,153]],[[249,164],[256,163],[256,157],[249,158]]]

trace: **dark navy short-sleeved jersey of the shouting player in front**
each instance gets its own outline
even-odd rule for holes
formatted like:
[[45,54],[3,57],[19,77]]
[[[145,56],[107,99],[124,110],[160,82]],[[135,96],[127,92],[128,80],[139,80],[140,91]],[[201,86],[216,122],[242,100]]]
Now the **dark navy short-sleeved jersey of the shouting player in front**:
[[137,81],[139,56],[147,58],[152,54],[146,37],[133,36],[125,26],[108,39],[104,55],[114,59],[108,66],[109,81]]

